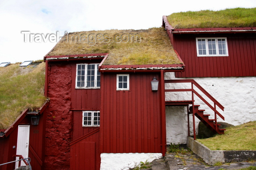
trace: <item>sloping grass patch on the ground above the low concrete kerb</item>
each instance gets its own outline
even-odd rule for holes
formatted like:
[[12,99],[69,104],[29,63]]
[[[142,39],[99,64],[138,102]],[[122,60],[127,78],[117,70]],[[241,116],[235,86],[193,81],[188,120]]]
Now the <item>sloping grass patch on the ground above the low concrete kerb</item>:
[[256,150],[256,121],[228,127],[223,135],[197,139],[211,150]]

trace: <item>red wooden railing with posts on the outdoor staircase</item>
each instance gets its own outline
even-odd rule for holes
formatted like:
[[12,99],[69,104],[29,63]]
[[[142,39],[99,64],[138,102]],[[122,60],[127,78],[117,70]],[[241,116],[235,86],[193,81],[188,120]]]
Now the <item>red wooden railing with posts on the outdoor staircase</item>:
[[[165,92],[183,92],[183,91],[191,91],[192,95],[192,113],[193,113],[193,132],[194,132],[194,139],[196,139],[195,134],[195,108],[194,108],[194,94],[199,97],[205,104],[207,104],[208,107],[211,108],[211,110],[214,111],[214,120],[215,120],[215,128],[217,130],[217,115],[225,120],[224,116],[222,116],[217,110],[216,106],[218,106],[222,111],[224,111],[224,107],[216,100],[214,97],[212,97],[202,86],[200,86],[195,80],[193,79],[173,79],[173,80],[165,80],[165,83],[191,83],[190,89],[165,89]],[[209,102],[206,101],[195,89],[193,86],[196,86],[201,92],[203,92],[204,95],[206,95],[213,103],[214,106],[212,106]]]

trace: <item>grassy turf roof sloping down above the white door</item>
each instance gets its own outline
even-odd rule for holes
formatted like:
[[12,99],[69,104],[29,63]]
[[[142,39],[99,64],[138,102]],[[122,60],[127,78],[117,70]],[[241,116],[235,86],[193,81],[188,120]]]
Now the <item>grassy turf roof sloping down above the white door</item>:
[[45,63],[0,67],[0,129],[7,129],[26,108],[45,102]]

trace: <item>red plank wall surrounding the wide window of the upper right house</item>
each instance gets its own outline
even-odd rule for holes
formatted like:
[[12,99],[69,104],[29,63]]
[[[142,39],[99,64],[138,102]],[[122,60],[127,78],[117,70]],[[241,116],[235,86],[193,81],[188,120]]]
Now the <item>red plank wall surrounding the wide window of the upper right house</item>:
[[[227,37],[229,56],[197,57],[196,37]],[[185,64],[185,71],[176,77],[256,76],[255,34],[173,34],[173,38]]]

